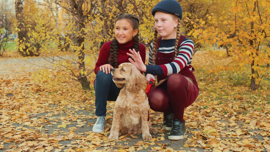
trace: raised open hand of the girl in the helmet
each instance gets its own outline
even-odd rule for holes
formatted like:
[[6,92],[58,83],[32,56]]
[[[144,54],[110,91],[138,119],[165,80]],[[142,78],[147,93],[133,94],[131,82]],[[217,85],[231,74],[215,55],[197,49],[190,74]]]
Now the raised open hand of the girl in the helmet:
[[145,72],[146,71],[146,66],[143,63],[142,59],[141,59],[140,52],[137,53],[135,51],[135,49],[133,49],[133,50],[129,49],[129,51],[131,53],[127,53],[127,55],[129,55],[130,57],[132,57],[132,59],[134,60],[133,61],[131,58],[129,58],[129,61],[132,64],[134,64],[138,70]]

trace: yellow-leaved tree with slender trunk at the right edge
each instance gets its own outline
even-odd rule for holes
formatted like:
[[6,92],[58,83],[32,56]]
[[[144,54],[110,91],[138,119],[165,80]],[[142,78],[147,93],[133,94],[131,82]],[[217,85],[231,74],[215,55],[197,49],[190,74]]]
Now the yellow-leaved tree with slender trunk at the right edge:
[[[227,46],[228,55],[236,64],[231,70],[246,70],[246,65],[250,66],[251,90],[257,90],[269,73],[269,7],[267,1],[233,1],[229,11],[218,19],[207,16],[211,26],[206,26],[201,19],[190,33],[209,45]],[[221,24],[224,24],[223,28],[220,28]]]

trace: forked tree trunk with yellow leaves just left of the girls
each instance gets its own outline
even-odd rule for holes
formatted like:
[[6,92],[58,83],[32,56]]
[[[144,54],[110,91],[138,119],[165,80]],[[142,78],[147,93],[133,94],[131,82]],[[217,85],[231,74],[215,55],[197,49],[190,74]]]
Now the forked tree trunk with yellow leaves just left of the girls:
[[[86,39],[86,25],[94,20],[95,12],[97,12],[98,3],[94,1],[55,1],[55,3],[65,9],[75,21],[77,33],[71,35],[75,39],[74,46],[75,54],[78,55],[79,75],[75,75],[78,81],[81,83],[84,90],[90,90],[90,83],[87,80],[88,72],[85,68],[85,39]],[[71,23],[72,24],[72,23]]]

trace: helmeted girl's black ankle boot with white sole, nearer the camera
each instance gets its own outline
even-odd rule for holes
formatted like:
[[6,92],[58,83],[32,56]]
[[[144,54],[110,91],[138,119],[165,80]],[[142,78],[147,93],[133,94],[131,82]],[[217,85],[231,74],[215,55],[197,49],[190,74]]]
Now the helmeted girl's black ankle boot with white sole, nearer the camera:
[[184,138],[184,135],[186,133],[186,127],[185,122],[181,122],[178,119],[175,119],[173,121],[173,127],[168,135],[168,138],[170,140],[180,140]]

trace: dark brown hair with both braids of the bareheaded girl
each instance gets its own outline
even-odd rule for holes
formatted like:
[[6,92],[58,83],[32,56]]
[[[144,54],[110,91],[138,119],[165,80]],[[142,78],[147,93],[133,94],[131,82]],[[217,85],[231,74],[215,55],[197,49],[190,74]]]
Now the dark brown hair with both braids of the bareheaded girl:
[[[135,49],[136,52],[139,51],[139,46],[140,46],[140,42],[139,42],[139,18],[135,15],[132,14],[120,14],[116,19],[115,19],[115,23],[121,19],[127,19],[133,30],[138,29],[138,33],[137,35],[135,35],[133,37],[134,39],[134,43],[132,46],[132,49]],[[118,41],[117,39],[114,37],[114,39],[111,41],[111,45],[110,45],[110,56],[109,56],[109,64],[116,68],[117,67],[117,57],[118,57],[118,53],[119,53],[119,45],[118,45]]]

